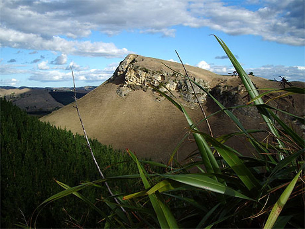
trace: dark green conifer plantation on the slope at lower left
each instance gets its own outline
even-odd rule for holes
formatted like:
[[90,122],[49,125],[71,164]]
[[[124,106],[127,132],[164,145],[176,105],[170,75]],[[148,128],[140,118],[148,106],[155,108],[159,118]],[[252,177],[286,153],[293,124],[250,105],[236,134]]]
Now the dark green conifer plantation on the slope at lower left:
[[[42,123],[21,111],[11,102],[0,99],[1,107],[1,228],[26,224],[35,208],[61,188],[53,179],[69,186],[81,181],[99,179],[99,173],[88,152],[83,136]],[[120,151],[90,140],[106,176],[132,174],[136,166],[124,162],[130,158]],[[124,162],[124,163],[119,163]],[[110,166],[111,165],[111,166]],[[109,167],[107,167],[109,166]],[[109,181],[113,191],[131,192],[136,180]],[[100,199],[107,197],[106,187],[91,187],[81,191],[105,213],[110,210]],[[22,213],[21,213],[22,211]],[[80,225],[95,227],[100,217],[74,196],[45,206],[38,215],[39,228],[72,227],[69,215]],[[34,214],[32,224],[37,214]],[[68,220],[68,221],[66,221]],[[72,220],[73,221],[73,220]],[[27,222],[29,224],[29,222]],[[29,224],[30,225],[30,224]]]

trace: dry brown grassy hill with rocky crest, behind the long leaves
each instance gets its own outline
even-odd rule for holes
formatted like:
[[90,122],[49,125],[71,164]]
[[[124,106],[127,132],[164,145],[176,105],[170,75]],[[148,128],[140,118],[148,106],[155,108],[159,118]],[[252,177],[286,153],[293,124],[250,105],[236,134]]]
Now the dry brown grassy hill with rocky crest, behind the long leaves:
[[[115,148],[129,148],[140,158],[166,161],[189,129],[184,115],[173,104],[162,99],[158,93],[147,86],[152,78],[159,77],[164,82],[170,79],[174,82],[175,78],[179,78],[162,63],[183,73],[181,64],[131,54],[121,62],[112,78],[79,99],[78,106],[88,136],[96,138],[103,144],[113,145]],[[227,107],[247,102],[247,98],[244,97],[246,92],[239,78],[217,75],[192,66],[186,66],[186,69],[191,77],[202,79],[202,82],[211,89],[211,93]],[[279,88],[278,82],[271,82],[260,77],[252,77],[252,79],[258,88]],[[181,80],[183,79],[179,82],[182,82]],[[304,86],[300,82],[292,83],[295,86]],[[127,89],[128,93],[120,96],[117,93],[120,88]],[[183,96],[179,94],[178,85],[172,92],[186,106],[193,122],[203,118],[198,106],[183,100]],[[294,114],[304,115],[303,99],[303,96],[294,96],[294,107],[292,100],[284,99],[280,107]],[[42,117],[41,121],[70,129],[73,133],[82,133],[77,111],[73,106],[74,104],[69,104],[54,111]],[[203,107],[208,115],[218,110],[217,105],[209,98],[203,102]],[[302,109],[295,107],[302,107]],[[262,119],[255,108],[246,111],[236,109],[234,113],[246,128],[264,129],[261,124]],[[234,124],[224,114],[213,116],[209,120],[214,136],[237,131]],[[288,120],[288,122],[293,123],[294,120]],[[199,129],[208,133],[204,122]],[[242,138],[232,139],[228,144],[241,153],[250,154]],[[181,145],[176,158],[182,161],[195,149],[196,144],[192,141],[192,136],[189,136]]]

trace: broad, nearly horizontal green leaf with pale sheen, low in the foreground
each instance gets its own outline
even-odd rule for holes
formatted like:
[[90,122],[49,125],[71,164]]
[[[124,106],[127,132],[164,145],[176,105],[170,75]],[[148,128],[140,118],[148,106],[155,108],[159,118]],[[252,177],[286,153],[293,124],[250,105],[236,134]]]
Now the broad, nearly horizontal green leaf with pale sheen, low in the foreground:
[[205,189],[208,191],[226,194],[229,196],[234,196],[238,198],[243,198],[247,200],[253,200],[246,195],[235,191],[229,187],[226,187],[224,184],[201,174],[176,174],[176,175],[167,175],[163,174],[161,175],[165,178],[172,179],[178,182],[181,182],[183,184],[188,184],[190,186],[198,187],[201,189]]

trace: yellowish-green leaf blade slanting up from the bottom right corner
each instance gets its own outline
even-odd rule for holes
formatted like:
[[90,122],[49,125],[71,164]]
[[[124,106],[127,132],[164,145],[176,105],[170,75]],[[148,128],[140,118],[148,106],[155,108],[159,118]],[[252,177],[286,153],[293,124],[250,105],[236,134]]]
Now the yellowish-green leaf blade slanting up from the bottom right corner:
[[284,205],[286,204],[290,194],[292,193],[292,190],[294,186],[296,185],[296,182],[302,172],[302,169],[296,174],[296,176],[293,178],[293,180],[290,182],[290,184],[285,188],[282,195],[278,199],[278,201],[274,204],[271,213],[267,219],[267,222],[264,226],[264,229],[272,228],[275,221],[277,220],[279,214],[281,213]]

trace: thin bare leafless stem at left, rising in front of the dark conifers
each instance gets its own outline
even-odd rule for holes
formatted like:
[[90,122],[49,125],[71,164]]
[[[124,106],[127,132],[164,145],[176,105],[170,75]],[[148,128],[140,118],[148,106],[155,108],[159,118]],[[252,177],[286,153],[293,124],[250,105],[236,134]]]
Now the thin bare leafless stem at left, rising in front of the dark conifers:
[[[73,73],[73,70],[72,70],[72,67],[71,67],[71,66],[70,66],[70,69],[71,69],[71,71],[72,71],[73,87],[74,87],[74,102],[75,102],[75,108],[76,108],[76,110],[77,110],[78,118],[79,118],[79,120],[80,120],[80,122],[81,122],[81,127],[83,128],[84,136],[85,136],[86,141],[87,141],[87,146],[88,146],[88,148],[89,148],[89,150],[90,150],[90,153],[91,153],[91,156],[92,156],[92,158],[93,158],[93,161],[94,161],[94,163],[95,163],[97,169],[99,170],[99,174],[101,175],[102,179],[105,179],[105,176],[104,176],[104,174],[102,173],[101,169],[99,168],[99,164],[97,163],[97,161],[96,161],[96,159],[95,159],[95,156],[94,156],[94,154],[93,154],[93,151],[92,151],[90,142],[89,142],[89,140],[88,140],[88,136],[87,136],[87,133],[86,133],[86,130],[85,130],[83,121],[82,121],[82,119],[81,119],[81,114],[80,114],[79,109],[78,109],[78,106],[77,106],[77,98],[76,98],[76,87],[75,87],[74,73]],[[107,189],[108,189],[110,195],[113,196],[113,192],[111,191],[111,189],[110,189],[110,187],[109,187],[107,181],[105,181],[105,185],[106,185],[106,187],[107,187]],[[115,202],[117,202],[118,205],[120,205],[120,202],[117,200],[116,197],[114,198],[114,200],[115,200]],[[123,212],[126,212],[125,209],[124,209],[122,206],[120,206],[120,208],[122,209]]]

